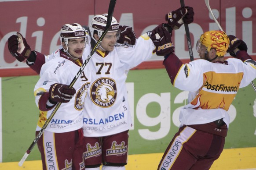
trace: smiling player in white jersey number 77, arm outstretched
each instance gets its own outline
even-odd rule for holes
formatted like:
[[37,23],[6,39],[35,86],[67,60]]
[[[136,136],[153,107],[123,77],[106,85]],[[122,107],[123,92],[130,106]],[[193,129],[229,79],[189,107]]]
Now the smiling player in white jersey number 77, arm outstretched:
[[[178,17],[173,19],[172,25],[181,25],[178,21],[185,15],[184,10],[185,8],[176,10]],[[92,46],[104,31],[106,18],[106,14],[92,18],[89,28]],[[90,86],[83,113],[86,170],[99,170],[102,164],[102,170],[125,169],[128,130],[132,126],[125,86],[127,73],[130,68],[152,56],[154,44],[166,45],[168,36],[163,30],[165,28],[161,24],[152,31],[153,36],[151,32],[147,32],[136,39],[131,27],[121,27],[113,17],[109,32],[88,62],[86,67],[91,72]],[[118,39],[119,34],[121,38]],[[130,44],[123,44],[124,42]],[[11,52],[12,48],[9,50]],[[36,57],[34,65],[40,60],[40,56]],[[40,67],[40,64],[35,67]]]

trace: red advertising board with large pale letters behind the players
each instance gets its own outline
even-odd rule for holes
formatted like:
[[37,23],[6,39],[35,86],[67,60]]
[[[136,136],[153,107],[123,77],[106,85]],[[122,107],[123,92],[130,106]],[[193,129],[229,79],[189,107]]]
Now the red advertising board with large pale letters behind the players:
[[[59,31],[66,23],[89,25],[95,14],[107,13],[108,0],[0,0],[0,72],[2,68],[27,67],[8,51],[7,39],[22,33],[32,50],[44,54],[60,46]],[[204,0],[185,0],[186,6],[194,8],[194,22],[189,25],[194,58],[195,44],[200,35],[218,29],[209,15]],[[249,54],[256,54],[256,1],[210,0],[210,6],[220,25],[227,34],[243,39]],[[180,7],[179,0],[117,0],[114,17],[121,25],[134,28],[137,37],[166,22],[165,14]],[[189,59],[184,27],[174,30],[172,41],[177,56]],[[229,54],[227,54],[229,55]],[[160,60],[153,56],[150,60]]]

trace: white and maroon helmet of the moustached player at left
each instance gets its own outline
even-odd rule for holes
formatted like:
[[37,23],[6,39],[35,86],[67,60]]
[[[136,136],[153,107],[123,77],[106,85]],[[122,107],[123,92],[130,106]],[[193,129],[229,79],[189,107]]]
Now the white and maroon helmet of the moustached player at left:
[[[60,41],[68,45],[68,39],[85,38],[85,35],[85,29],[80,24],[65,24],[60,30]],[[67,50],[65,51],[67,52]]]

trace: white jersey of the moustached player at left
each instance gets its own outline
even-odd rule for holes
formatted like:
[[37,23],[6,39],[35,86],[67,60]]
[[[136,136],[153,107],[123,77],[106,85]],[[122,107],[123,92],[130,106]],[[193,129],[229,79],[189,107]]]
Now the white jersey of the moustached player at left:
[[[59,50],[57,51],[59,53]],[[40,96],[37,96],[38,93],[48,92],[50,85],[55,83],[70,85],[81,67],[81,63],[74,62],[66,57],[57,57],[56,54],[58,53],[52,54],[51,57],[53,59],[45,63],[41,68],[40,79],[34,89],[37,106],[40,99]],[[83,61],[87,58],[87,54],[88,53],[83,53]],[[68,103],[62,103],[60,105],[54,117],[48,124],[46,128],[47,131],[62,133],[74,131],[83,126],[82,112],[86,92],[90,84],[88,77],[90,74],[86,74],[86,68],[87,67],[84,68],[84,71],[80,74],[79,78],[73,85],[73,88],[76,89],[75,96]],[[41,129],[52,111],[53,109],[49,111],[40,110],[37,131]]]

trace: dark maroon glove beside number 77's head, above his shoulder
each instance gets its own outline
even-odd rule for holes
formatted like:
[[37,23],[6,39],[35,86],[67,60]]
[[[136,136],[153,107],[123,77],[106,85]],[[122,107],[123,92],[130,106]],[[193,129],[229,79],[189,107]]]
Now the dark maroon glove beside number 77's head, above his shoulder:
[[132,27],[119,25],[119,29],[120,29],[120,37],[117,40],[117,43],[134,45],[136,42],[136,35],[133,32]]

